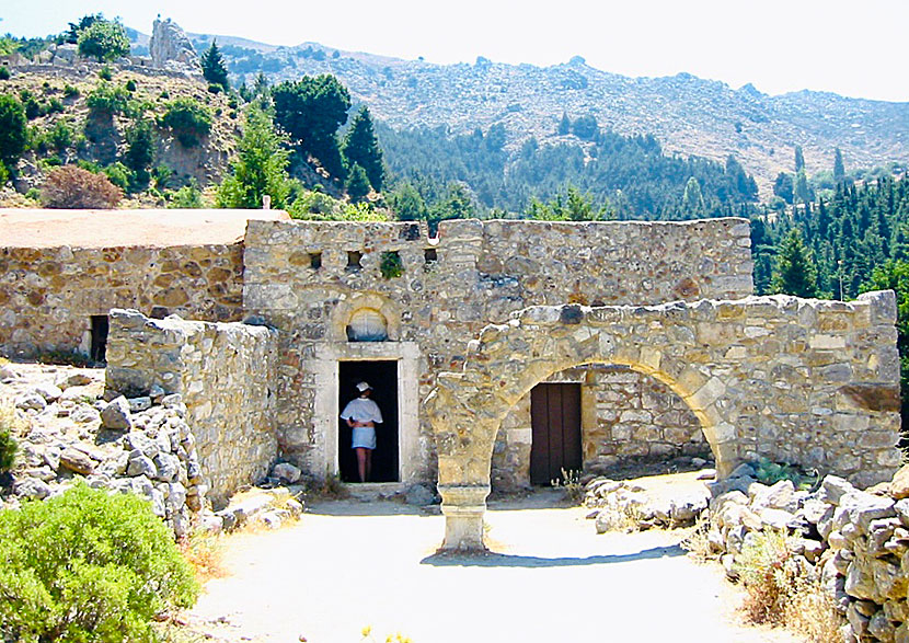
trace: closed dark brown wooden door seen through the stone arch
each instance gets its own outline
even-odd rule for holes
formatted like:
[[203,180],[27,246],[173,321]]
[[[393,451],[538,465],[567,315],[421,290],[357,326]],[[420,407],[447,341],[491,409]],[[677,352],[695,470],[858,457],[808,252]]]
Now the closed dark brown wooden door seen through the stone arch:
[[580,471],[580,384],[537,384],[530,391],[530,482],[549,484]]

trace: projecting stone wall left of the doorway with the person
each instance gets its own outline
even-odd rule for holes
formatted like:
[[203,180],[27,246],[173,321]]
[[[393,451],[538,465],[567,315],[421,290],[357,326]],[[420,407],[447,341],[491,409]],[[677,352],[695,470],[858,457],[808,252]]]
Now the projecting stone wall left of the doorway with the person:
[[265,476],[277,453],[277,332],[242,323],[152,320],[113,310],[107,388],[180,393],[216,507]]

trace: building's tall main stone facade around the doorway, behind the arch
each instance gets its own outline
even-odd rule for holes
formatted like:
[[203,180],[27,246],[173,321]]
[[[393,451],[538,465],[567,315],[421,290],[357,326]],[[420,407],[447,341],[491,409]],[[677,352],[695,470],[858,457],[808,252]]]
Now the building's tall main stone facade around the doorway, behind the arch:
[[[281,329],[278,423],[284,455],[320,474],[331,458],[314,409],[336,413],[319,381],[331,381],[320,345],[344,359],[346,325],[379,312],[389,344],[418,346],[424,400],[441,370],[464,363],[468,342],[490,322],[532,305],[658,303],[751,292],[747,221],[445,221],[425,225],[250,221],[244,306]],[[384,253],[403,274],[386,278]],[[321,378],[321,379],[320,379]],[[321,400],[321,401],[320,401]],[[435,445],[419,413],[423,470],[434,476]],[[330,447],[327,447],[330,448]]]

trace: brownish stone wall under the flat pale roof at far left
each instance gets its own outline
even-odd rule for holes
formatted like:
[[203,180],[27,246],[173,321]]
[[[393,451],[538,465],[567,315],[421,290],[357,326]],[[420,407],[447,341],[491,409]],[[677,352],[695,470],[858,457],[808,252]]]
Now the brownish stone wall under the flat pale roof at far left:
[[240,320],[242,279],[240,243],[0,248],[0,351],[88,353],[90,317],[112,308]]

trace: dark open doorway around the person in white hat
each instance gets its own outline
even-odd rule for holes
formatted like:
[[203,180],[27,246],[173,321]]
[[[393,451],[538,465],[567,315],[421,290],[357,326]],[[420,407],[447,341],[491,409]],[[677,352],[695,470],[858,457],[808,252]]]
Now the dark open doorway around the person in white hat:
[[341,480],[359,482],[357,457],[350,448],[350,427],[341,420],[344,406],[359,397],[357,383],[372,387],[371,398],[379,405],[384,422],[376,427],[372,474],[368,482],[399,482],[398,467],[398,361],[342,361],[338,365],[337,448]]

